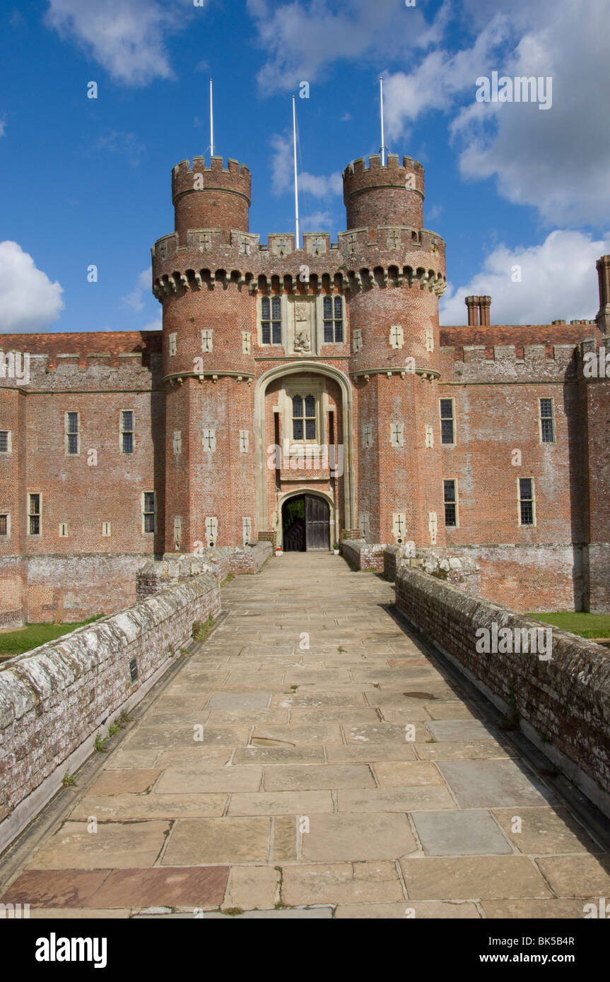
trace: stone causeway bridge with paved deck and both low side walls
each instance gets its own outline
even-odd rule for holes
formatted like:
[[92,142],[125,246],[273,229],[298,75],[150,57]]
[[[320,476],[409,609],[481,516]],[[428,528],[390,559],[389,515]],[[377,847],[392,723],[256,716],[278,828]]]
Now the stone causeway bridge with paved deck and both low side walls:
[[610,898],[603,649],[559,631],[547,662],[475,656],[469,625],[517,615],[408,568],[396,594],[326,553],[229,580],[199,571],[0,671],[2,902],[582,918]]

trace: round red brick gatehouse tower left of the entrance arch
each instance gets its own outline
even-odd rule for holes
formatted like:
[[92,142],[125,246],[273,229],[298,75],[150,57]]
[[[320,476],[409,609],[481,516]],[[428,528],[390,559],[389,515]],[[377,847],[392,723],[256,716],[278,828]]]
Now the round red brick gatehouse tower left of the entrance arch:
[[195,157],[174,168],[172,197],[175,232],[152,249],[152,280],[163,305],[165,548],[189,553],[256,535],[250,171]]

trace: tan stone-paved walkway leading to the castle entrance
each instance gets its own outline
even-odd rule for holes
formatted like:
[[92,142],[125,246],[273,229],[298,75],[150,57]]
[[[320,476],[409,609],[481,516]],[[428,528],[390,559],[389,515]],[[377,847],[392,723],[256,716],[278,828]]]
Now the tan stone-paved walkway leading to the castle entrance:
[[393,598],[326,554],[223,588],[224,622],[69,791],[4,900],[59,917],[582,918],[610,897],[607,854]]

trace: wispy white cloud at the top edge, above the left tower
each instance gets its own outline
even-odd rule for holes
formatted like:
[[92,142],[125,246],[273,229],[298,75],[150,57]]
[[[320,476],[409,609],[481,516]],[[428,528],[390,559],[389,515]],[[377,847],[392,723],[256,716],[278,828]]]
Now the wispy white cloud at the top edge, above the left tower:
[[180,6],[185,9],[155,0],[49,0],[46,23],[75,40],[115,82],[146,85],[174,78],[165,41],[186,26],[189,7]]

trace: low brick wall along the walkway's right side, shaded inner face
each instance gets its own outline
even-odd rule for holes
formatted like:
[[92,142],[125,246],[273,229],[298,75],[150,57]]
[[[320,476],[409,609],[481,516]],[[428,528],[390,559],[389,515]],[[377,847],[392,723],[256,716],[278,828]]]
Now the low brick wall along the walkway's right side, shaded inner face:
[[[407,568],[397,575],[396,602],[496,705],[519,718],[538,749],[610,814],[610,657],[604,648],[553,627],[550,660],[539,648],[502,653],[508,645],[497,633],[493,644],[494,629],[508,627],[516,637],[516,631],[543,626]],[[480,628],[489,632],[492,650],[500,647],[501,652],[477,652],[483,640],[476,633]]]

